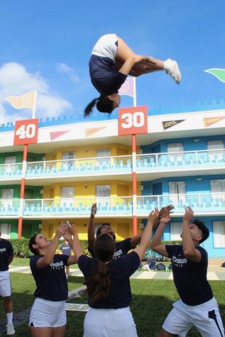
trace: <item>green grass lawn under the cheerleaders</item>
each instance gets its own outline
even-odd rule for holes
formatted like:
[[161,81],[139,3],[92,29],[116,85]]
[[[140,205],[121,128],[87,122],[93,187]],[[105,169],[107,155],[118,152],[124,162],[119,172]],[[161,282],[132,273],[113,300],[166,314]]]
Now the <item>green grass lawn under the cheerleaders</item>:
[[[82,286],[81,277],[69,277],[69,289]],[[33,304],[33,290],[35,284],[31,275],[11,274],[12,297],[14,311],[27,309]],[[210,282],[214,296],[219,302],[222,319],[225,320],[225,282]],[[170,280],[131,280],[133,300],[131,311],[136,322],[138,337],[156,337],[163,321],[170,309],[172,302],[178,299],[173,281]],[[74,303],[87,303],[87,298],[74,299]],[[0,307],[0,317],[4,311]],[[79,311],[67,312],[67,337],[82,337],[83,320],[85,313]],[[2,337],[6,335],[1,335]],[[28,323],[16,328],[16,337],[31,336],[28,331]],[[200,336],[192,329],[188,337]]]

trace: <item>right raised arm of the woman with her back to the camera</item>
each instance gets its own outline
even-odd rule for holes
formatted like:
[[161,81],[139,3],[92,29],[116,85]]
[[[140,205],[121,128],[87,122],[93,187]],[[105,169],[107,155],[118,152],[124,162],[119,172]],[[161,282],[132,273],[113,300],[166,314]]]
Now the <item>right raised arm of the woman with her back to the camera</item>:
[[140,260],[143,260],[143,257],[146,253],[146,249],[148,245],[150,244],[150,238],[152,236],[152,231],[153,231],[153,226],[155,223],[158,223],[158,209],[155,209],[154,211],[151,211],[150,214],[148,215],[148,222],[143,230],[143,234],[141,236],[141,242],[140,245],[138,245],[137,248],[135,248],[134,251],[138,253]]

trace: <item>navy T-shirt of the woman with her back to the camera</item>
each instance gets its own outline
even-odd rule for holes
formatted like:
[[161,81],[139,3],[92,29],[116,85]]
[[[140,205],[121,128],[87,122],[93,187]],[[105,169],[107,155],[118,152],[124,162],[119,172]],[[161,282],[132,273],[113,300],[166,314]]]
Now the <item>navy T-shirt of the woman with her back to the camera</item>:
[[[96,258],[81,255],[78,259],[79,269],[84,274],[85,280],[92,276],[95,267],[99,263]],[[90,304],[94,309],[120,309],[126,308],[131,303],[131,284],[129,277],[138,269],[140,258],[133,251],[119,259],[107,263],[110,277],[109,296]]]

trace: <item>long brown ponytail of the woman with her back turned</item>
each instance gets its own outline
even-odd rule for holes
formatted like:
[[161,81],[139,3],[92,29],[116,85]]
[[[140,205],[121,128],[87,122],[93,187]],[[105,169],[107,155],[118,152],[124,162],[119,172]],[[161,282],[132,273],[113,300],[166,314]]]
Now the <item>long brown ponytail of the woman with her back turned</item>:
[[87,286],[86,292],[88,293],[90,304],[109,296],[109,272],[103,261],[97,263],[94,274],[84,284]]

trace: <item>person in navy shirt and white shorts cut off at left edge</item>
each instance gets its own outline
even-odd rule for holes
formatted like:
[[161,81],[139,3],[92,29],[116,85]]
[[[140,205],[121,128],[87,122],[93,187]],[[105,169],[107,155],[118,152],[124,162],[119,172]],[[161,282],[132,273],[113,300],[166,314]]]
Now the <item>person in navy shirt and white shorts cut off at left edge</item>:
[[13,335],[15,333],[13,327],[13,302],[11,300],[11,282],[9,276],[9,265],[13,260],[13,246],[11,243],[1,238],[0,228],[0,296],[4,302],[6,311],[6,333]]

